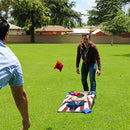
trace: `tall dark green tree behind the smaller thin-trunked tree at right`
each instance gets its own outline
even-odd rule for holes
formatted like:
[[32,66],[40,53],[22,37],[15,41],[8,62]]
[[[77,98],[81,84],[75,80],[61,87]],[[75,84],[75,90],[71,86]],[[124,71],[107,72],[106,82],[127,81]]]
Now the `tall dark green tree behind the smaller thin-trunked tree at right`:
[[[116,12],[121,10],[120,0],[96,0],[94,9],[88,11],[88,25],[99,25],[102,22],[113,19]],[[110,17],[111,16],[111,17]]]

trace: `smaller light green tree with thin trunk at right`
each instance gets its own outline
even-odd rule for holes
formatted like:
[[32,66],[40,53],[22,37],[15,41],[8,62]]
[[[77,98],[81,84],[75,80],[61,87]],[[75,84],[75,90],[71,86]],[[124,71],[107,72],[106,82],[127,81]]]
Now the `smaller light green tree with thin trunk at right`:
[[113,45],[114,35],[117,35],[119,33],[130,32],[130,17],[128,15],[125,15],[125,13],[122,10],[120,10],[117,12],[116,17],[114,17],[110,21],[103,22],[102,25],[104,26],[104,31],[112,33],[111,45]]

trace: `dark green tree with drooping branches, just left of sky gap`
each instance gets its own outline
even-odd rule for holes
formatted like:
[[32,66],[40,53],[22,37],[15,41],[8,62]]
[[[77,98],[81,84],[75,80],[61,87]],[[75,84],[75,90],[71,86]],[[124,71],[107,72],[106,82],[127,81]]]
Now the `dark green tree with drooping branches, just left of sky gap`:
[[72,10],[75,2],[69,0],[42,0],[44,5],[50,9],[50,25],[62,25],[64,27],[74,27],[81,25],[81,13]]

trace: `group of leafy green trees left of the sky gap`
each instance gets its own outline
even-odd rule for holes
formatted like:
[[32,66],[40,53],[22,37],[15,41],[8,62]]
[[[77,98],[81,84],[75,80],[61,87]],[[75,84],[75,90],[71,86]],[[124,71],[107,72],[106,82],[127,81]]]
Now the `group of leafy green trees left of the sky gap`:
[[31,34],[33,43],[36,27],[50,24],[70,28],[81,25],[82,14],[72,10],[74,6],[75,2],[69,0],[0,0],[0,15],[24,27]]

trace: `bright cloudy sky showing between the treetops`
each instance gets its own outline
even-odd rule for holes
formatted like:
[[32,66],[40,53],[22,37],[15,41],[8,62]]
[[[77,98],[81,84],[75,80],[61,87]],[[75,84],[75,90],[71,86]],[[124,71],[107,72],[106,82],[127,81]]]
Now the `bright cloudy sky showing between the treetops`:
[[[76,2],[76,6],[73,7],[75,11],[78,11],[82,14],[87,14],[87,10],[91,10],[94,6],[96,6],[95,0],[70,0],[70,2]],[[125,12],[130,8],[130,3],[123,7]],[[82,22],[87,23],[88,16],[82,16]]]

